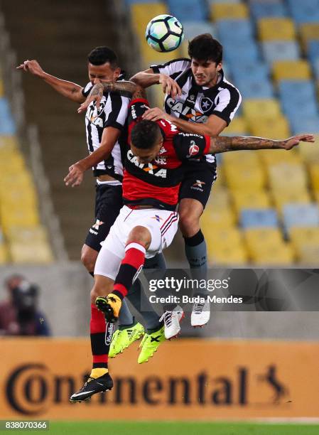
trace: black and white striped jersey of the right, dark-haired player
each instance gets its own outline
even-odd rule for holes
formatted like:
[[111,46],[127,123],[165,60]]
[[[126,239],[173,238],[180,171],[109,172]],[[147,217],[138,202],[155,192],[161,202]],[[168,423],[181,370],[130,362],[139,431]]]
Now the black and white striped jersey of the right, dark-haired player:
[[[163,65],[151,65],[154,73],[169,75],[182,90],[182,95],[175,98],[166,95],[165,112],[189,122],[207,122],[208,117],[214,114],[228,125],[242,102],[239,90],[225,79],[222,70],[217,85],[196,85],[190,65],[190,59],[186,58],[171,60]],[[206,161],[213,163],[215,157],[206,156]]]

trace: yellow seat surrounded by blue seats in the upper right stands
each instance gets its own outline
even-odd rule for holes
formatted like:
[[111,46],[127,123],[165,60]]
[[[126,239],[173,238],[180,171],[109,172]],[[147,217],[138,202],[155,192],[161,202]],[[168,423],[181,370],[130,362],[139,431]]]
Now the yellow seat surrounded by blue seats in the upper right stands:
[[311,80],[307,60],[276,60],[273,63],[274,80]]

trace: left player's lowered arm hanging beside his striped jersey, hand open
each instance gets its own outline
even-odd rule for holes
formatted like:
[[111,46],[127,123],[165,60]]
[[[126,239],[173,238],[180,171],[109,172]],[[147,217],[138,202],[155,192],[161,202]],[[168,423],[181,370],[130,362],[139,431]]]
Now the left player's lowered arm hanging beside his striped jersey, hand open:
[[109,155],[112,153],[112,149],[117,143],[120,134],[121,131],[115,127],[105,128],[99,148],[93,151],[90,156],[87,156],[85,159],[77,161],[77,163],[74,163],[70,166],[69,173],[64,178],[65,185],[72,187],[80,186],[84,178],[84,173],[87,171],[87,169],[90,169],[93,166],[96,166],[100,161],[109,158]]

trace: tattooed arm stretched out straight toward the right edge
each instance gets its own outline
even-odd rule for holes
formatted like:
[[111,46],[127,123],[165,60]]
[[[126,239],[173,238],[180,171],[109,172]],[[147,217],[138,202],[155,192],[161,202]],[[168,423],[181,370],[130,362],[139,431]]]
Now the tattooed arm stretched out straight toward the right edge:
[[263,137],[246,136],[217,136],[210,139],[210,149],[208,153],[217,154],[227,151],[257,150],[257,149],[293,149],[300,142],[314,142],[313,134],[299,134],[283,141],[264,139]]

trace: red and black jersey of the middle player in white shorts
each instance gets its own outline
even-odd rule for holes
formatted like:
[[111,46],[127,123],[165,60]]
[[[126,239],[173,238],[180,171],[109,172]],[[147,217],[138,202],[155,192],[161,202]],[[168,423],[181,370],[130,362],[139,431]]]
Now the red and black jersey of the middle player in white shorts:
[[[129,106],[129,139],[131,129],[149,108],[148,101],[138,99]],[[199,159],[210,149],[210,136],[183,133],[164,119],[156,121],[163,134],[163,146],[151,163],[139,163],[131,149],[127,151],[123,198],[127,205],[153,205],[175,210],[183,178],[183,161]]]

